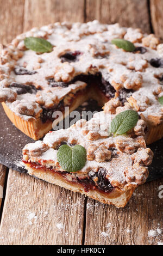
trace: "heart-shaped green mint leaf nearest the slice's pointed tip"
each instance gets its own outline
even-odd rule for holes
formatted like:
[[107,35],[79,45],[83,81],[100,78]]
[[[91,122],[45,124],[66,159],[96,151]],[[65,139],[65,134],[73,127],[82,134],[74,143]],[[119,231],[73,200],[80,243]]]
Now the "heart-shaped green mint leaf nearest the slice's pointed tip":
[[58,149],[57,160],[67,172],[77,172],[85,166],[86,150],[81,145],[70,147],[62,145]]

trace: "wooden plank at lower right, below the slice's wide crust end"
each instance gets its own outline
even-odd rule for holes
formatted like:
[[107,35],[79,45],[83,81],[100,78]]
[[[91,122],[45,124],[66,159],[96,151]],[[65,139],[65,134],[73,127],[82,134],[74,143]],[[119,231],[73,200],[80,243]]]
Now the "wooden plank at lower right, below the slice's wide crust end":
[[162,181],[137,188],[124,209],[88,199],[85,245],[157,245],[162,242],[162,235],[156,231],[163,228],[163,199],[158,197]]

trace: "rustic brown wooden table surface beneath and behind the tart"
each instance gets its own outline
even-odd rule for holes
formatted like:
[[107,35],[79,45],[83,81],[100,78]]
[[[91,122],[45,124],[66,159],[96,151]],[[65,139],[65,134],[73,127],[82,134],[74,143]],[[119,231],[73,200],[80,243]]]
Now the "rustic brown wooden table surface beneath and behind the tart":
[[[0,42],[57,21],[120,22],[163,39],[162,0],[0,0]],[[160,245],[163,179],[140,186],[124,209],[0,166],[0,245]],[[0,187],[0,188],[2,188]]]

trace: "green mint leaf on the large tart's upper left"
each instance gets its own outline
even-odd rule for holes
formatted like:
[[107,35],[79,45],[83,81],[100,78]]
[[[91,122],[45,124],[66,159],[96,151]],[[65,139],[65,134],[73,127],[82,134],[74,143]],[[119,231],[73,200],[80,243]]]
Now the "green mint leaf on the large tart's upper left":
[[53,45],[45,39],[34,38],[30,36],[29,38],[24,39],[25,46],[35,52],[52,52]]

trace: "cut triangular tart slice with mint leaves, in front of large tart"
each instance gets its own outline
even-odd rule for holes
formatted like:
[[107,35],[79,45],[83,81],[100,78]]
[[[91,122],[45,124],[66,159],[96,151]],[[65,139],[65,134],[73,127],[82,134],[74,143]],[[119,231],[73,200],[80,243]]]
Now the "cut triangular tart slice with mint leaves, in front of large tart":
[[[126,113],[128,110],[121,108],[116,115],[110,114],[106,103],[104,111],[91,120],[81,119],[66,130],[47,133],[43,141],[24,147],[24,166],[39,179],[124,207],[135,188],[146,181],[153,158],[142,136],[145,121],[138,117],[132,129],[133,117],[127,115],[128,120],[122,122],[130,129],[126,135],[112,135],[110,127]],[[120,123],[118,127],[116,134],[124,132]]]

